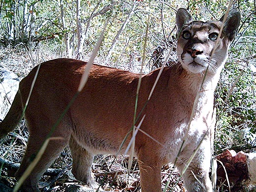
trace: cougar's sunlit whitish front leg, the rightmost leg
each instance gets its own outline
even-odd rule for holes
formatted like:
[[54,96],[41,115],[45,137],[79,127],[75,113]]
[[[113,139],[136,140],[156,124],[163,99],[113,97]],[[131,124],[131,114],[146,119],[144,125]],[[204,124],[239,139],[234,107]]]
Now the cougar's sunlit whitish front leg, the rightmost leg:
[[[181,155],[180,160],[188,160],[190,157],[184,158],[184,154]],[[188,192],[213,192],[212,183],[209,178],[211,162],[211,145],[210,140],[205,138],[191,164],[183,174],[183,180]],[[178,163],[178,169],[180,172],[184,171],[185,165],[188,162]]]

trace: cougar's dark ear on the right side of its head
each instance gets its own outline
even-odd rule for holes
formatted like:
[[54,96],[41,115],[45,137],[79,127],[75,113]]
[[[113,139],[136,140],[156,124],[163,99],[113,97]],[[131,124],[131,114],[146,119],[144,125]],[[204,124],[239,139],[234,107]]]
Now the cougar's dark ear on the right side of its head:
[[[224,15],[220,19],[221,22],[224,20]],[[236,31],[240,25],[241,16],[237,9],[229,11],[226,21],[224,23],[223,32],[232,41],[236,35]]]

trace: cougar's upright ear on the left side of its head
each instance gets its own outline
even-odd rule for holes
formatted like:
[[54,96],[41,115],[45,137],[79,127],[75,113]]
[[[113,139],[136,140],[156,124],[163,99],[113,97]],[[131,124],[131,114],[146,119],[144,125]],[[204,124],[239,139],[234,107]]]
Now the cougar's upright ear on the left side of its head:
[[177,34],[180,33],[185,25],[188,25],[192,21],[193,20],[189,12],[184,8],[180,8],[176,13]]

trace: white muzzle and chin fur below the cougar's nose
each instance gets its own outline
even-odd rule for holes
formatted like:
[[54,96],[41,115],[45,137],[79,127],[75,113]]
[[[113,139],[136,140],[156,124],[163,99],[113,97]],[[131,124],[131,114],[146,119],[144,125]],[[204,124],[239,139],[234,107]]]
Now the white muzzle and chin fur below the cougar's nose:
[[205,55],[197,55],[195,59],[193,59],[190,54],[186,53],[183,55],[183,59],[180,59],[180,62],[184,69],[192,73],[201,73],[205,71],[208,66],[208,59]]

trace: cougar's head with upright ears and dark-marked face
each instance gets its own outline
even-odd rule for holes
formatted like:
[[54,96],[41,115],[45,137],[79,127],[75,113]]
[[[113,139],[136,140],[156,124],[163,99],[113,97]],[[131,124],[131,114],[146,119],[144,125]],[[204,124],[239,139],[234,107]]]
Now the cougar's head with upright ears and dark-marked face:
[[[230,42],[240,24],[240,13],[229,11],[219,21],[193,21],[186,9],[180,8],[176,15],[178,45],[177,55],[183,68],[192,73],[206,70],[216,73],[222,69]],[[223,31],[220,33],[223,25]],[[219,44],[217,39],[220,36]]]

